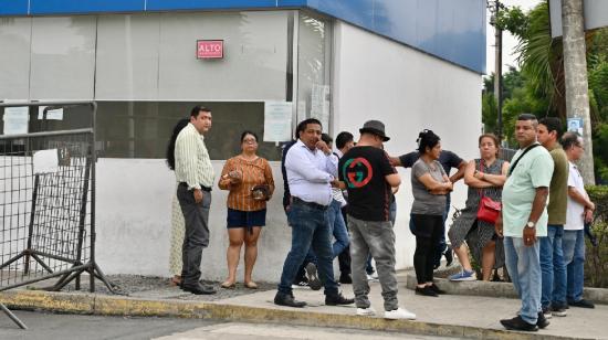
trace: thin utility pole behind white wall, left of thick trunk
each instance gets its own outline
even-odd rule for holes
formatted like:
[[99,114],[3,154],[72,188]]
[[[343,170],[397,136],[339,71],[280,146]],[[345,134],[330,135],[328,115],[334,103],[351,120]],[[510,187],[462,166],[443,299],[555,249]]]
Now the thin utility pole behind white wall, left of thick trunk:
[[494,26],[494,42],[495,42],[495,72],[494,72],[494,97],[496,98],[496,136],[502,142],[503,139],[503,110],[502,110],[502,100],[503,100],[503,79],[502,79],[502,70],[503,70],[503,31],[499,26],[497,18],[499,11],[503,8],[503,4],[500,0],[489,1],[488,8],[492,13],[490,18],[490,24]]

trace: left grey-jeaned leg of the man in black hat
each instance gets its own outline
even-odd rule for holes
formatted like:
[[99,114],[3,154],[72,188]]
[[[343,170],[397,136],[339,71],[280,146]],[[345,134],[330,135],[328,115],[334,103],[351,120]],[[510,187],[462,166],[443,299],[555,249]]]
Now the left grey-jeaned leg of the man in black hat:
[[361,223],[358,220],[347,216],[350,230],[350,273],[353,275],[353,293],[355,293],[355,305],[357,308],[369,308],[371,302],[367,295],[369,294],[369,284],[365,273],[365,265],[369,248],[360,233]]

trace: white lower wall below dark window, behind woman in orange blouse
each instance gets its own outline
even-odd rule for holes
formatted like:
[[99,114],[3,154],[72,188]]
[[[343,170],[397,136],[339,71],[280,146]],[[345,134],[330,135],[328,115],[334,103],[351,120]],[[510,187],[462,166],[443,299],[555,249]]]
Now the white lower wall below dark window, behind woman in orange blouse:
[[[213,161],[219,174],[224,161]],[[269,202],[266,226],[258,242],[253,277],[277,281],[291,246],[291,230],[283,212],[283,180],[279,162],[271,162],[276,190]],[[97,162],[96,259],[106,274],[169,276],[171,198],[175,174],[159,159],[99,159]],[[226,199],[212,191],[209,247],[202,252],[205,279],[227,276]],[[243,248],[244,251],[244,248]],[[238,279],[243,278],[243,262]]]

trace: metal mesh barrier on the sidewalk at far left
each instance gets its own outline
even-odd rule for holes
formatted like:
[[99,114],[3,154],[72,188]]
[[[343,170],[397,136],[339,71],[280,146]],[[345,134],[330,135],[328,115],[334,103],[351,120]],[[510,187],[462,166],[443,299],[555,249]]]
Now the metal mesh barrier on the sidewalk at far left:
[[80,289],[83,273],[91,291],[95,278],[114,291],[95,263],[96,104],[19,103],[0,104],[0,109],[7,131],[7,108],[33,116],[33,109],[45,107],[44,120],[51,109],[75,106],[90,108],[90,128],[0,135],[0,291],[49,278],[57,280],[45,289],[72,281]]

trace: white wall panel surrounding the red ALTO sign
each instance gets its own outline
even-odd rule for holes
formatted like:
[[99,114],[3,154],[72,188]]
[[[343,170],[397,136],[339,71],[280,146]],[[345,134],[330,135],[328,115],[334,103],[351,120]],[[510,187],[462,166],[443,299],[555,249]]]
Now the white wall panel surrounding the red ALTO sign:
[[[222,60],[197,60],[197,40],[224,40]],[[286,12],[160,14],[159,99],[285,99]]]

